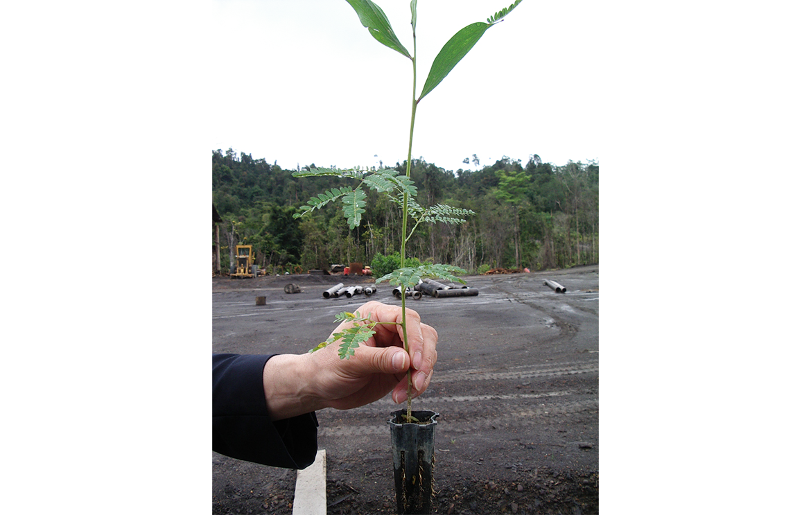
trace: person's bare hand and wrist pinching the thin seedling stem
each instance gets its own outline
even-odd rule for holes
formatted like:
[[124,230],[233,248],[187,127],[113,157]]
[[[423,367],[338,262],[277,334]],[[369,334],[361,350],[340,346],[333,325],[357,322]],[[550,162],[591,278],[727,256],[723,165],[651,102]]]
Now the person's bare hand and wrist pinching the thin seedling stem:
[[[412,397],[425,392],[437,358],[436,330],[421,323],[416,311],[406,308],[409,352],[405,353],[399,325],[401,307],[371,301],[357,311],[361,317],[368,315],[381,324],[375,326],[373,337],[354,350],[353,357],[341,359],[338,345],[327,345],[312,354],[286,354],[268,360],[265,397],[274,418],[324,407],[349,410],[374,402],[388,392],[392,392],[393,401],[399,404],[405,401],[409,375],[414,385]],[[341,322],[333,333],[351,324],[350,320]],[[290,411],[297,403],[299,406]]]

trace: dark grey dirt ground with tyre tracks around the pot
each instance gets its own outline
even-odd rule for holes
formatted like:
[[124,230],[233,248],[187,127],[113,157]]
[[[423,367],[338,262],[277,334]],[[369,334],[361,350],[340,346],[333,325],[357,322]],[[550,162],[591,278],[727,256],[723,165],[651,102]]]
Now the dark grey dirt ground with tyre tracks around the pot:
[[[556,294],[544,279],[567,288]],[[599,513],[599,267],[466,277],[478,296],[408,299],[439,335],[431,385],[414,409],[440,413],[435,513]],[[367,277],[212,279],[212,350],[301,354],[334,315],[367,300],[399,304],[391,287],[330,298],[330,285]],[[287,284],[301,288],[285,294]],[[267,304],[257,306],[256,296]],[[302,324],[312,334],[302,334]],[[297,329],[298,328],[298,329]],[[396,513],[384,397],[321,410],[327,513]],[[290,514],[295,470],[212,453],[212,513]]]

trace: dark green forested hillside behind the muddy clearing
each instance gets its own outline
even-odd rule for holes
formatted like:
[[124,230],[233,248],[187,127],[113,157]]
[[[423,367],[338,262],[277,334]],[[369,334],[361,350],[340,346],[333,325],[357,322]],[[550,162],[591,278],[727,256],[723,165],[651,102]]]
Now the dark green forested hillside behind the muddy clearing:
[[[474,164],[477,161],[474,156]],[[395,168],[405,174],[405,163]],[[371,264],[378,253],[399,253],[401,211],[374,191],[355,230],[349,229],[337,203],[294,219],[294,212],[311,196],[354,184],[333,177],[294,178],[293,171],[231,149],[212,152],[212,200],[223,219],[224,273],[229,249],[237,244],[253,245],[257,264],[268,267],[268,273],[271,267],[279,273],[296,265],[306,271],[350,261]],[[536,154],[526,164],[503,157],[481,170],[450,171],[414,160],[411,178],[423,206],[450,204],[477,214],[464,225],[419,225],[408,257],[472,273],[599,261],[597,163],[556,166]]]

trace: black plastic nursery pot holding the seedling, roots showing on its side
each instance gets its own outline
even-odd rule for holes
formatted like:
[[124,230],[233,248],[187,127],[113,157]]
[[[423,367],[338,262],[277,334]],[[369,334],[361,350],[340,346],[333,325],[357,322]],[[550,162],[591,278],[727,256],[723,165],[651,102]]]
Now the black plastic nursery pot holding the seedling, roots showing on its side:
[[436,411],[412,411],[418,423],[403,423],[405,410],[392,412],[388,427],[392,433],[394,490],[398,515],[431,513],[434,484],[434,431]]

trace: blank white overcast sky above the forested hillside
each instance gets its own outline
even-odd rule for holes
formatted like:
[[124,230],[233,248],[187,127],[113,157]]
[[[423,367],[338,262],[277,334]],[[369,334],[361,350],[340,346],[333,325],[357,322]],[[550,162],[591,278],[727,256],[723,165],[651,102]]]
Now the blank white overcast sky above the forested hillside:
[[[413,54],[409,0],[376,2]],[[444,43],[510,0],[422,0],[417,94]],[[506,155],[599,159],[593,2],[525,0],[420,101],[414,157],[448,170]],[[212,150],[285,169],[395,165],[408,151],[411,62],[337,0],[217,0]],[[377,157],[375,157],[375,155]]]

